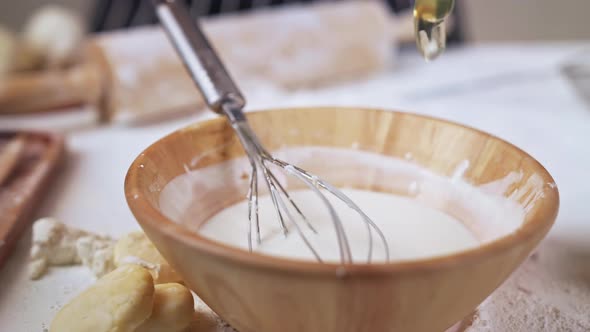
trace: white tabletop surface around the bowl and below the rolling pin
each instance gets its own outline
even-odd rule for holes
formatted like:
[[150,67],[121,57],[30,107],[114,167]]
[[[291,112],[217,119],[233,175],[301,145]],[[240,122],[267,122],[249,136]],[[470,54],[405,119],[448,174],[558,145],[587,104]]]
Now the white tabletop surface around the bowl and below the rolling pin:
[[[502,137],[537,158],[554,176],[561,209],[549,236],[590,254],[590,107],[560,74],[560,65],[590,44],[487,45],[450,50],[425,64],[405,53],[398,68],[328,89],[283,93],[246,89],[249,109],[283,106],[368,106],[429,114]],[[124,200],[127,167],[164,134],[211,117],[199,112],[146,126],[89,125],[91,112],[40,119],[0,118],[0,129],[44,127],[67,132],[69,156],[39,216],[119,236],[137,229]],[[81,126],[76,127],[79,123]],[[221,181],[221,180],[220,180]],[[90,285],[82,267],[27,275],[30,233],[0,271],[0,330],[47,328],[61,305]],[[590,264],[590,262],[589,262]]]

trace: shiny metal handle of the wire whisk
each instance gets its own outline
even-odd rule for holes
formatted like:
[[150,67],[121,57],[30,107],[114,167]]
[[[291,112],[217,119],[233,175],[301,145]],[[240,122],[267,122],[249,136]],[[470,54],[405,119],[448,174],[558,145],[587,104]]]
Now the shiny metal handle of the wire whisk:
[[225,109],[241,110],[246,101],[199,27],[198,20],[177,1],[153,0],[153,4],[168,38],[209,107],[220,114],[225,114]]

